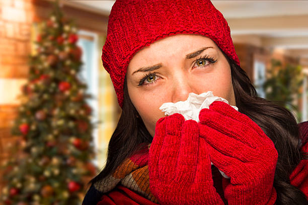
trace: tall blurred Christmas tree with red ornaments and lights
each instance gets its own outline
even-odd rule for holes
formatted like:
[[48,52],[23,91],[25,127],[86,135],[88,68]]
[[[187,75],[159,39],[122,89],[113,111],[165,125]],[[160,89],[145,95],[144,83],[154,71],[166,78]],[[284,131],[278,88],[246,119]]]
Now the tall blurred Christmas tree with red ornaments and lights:
[[[79,80],[82,50],[72,21],[58,2],[40,24],[37,54],[29,55],[29,80],[22,87],[21,106],[12,128],[22,136],[4,163],[1,200],[5,204],[81,204],[88,179],[97,169],[86,99]],[[19,149],[17,148],[19,147]]]

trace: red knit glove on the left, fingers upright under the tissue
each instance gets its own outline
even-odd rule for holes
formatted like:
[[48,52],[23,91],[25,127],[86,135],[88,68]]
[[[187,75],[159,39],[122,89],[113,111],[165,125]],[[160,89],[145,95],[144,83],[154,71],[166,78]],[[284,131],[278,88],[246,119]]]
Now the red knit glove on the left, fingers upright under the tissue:
[[161,118],[149,149],[150,191],[161,204],[223,204],[213,186],[205,140],[196,121]]

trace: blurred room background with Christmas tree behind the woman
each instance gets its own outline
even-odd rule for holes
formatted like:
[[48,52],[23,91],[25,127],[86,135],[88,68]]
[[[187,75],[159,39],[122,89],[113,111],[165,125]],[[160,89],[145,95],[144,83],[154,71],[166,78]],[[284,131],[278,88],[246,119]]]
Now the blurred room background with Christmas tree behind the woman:
[[[86,183],[104,166],[121,113],[101,62],[114,2],[59,0],[54,9],[54,0],[0,0],[0,191],[5,204],[80,200]],[[228,22],[241,67],[258,96],[289,109],[298,123],[307,121],[308,1],[212,3]],[[59,79],[53,77],[57,69],[63,71]],[[75,125],[79,132],[70,132]],[[56,144],[60,137],[67,145],[62,151]],[[58,177],[66,168],[61,186]],[[26,178],[25,172],[30,173]]]

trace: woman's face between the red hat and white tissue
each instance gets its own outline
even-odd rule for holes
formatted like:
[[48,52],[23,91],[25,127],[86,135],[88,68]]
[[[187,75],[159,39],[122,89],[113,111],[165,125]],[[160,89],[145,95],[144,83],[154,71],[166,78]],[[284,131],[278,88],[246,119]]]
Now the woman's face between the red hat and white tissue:
[[236,106],[230,66],[210,38],[194,34],[169,36],[143,47],[130,60],[127,88],[150,135],[165,117],[165,102],[185,101],[190,92],[213,91]]

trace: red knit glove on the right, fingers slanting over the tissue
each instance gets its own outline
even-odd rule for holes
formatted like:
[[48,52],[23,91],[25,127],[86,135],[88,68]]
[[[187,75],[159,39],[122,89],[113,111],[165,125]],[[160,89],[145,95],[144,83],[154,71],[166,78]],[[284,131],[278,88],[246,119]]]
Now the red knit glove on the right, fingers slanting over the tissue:
[[199,114],[200,137],[210,160],[230,179],[224,190],[228,204],[274,204],[278,158],[274,143],[248,116],[222,101]]

